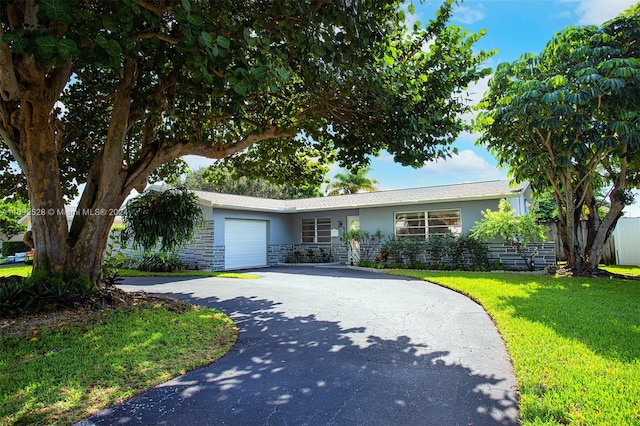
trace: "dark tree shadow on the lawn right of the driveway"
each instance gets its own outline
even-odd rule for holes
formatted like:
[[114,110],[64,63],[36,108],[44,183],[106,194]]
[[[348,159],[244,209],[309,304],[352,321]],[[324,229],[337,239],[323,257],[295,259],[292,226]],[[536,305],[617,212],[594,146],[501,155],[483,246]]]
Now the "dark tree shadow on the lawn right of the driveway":
[[[529,297],[504,297],[514,316],[542,323],[585,344],[598,355],[631,362],[640,358],[640,283],[572,278],[540,283]],[[539,307],[544,306],[541,310]]]

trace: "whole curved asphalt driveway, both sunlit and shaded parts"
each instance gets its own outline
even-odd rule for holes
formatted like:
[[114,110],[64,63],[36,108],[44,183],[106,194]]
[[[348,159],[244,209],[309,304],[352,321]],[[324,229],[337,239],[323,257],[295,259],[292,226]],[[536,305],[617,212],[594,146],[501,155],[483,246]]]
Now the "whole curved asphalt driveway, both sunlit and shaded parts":
[[218,362],[82,425],[515,425],[513,369],[475,302],[347,268],[279,267],[258,280],[127,278],[226,312]]

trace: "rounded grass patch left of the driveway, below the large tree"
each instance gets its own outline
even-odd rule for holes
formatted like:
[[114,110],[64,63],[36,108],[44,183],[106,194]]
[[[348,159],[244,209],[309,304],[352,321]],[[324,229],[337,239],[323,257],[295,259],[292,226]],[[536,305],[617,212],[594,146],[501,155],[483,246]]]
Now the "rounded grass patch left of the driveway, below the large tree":
[[0,424],[70,424],[217,360],[237,338],[233,322],[208,308],[142,303],[85,315],[3,330]]

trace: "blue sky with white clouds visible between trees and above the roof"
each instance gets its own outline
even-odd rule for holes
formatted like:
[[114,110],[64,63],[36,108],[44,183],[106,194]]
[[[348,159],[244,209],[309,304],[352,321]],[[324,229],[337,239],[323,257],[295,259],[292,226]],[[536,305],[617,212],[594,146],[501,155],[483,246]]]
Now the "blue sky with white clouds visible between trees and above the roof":
[[[440,1],[414,0],[415,14],[410,20],[426,24]],[[600,25],[623,12],[636,0],[466,0],[455,9],[452,23],[471,32],[485,29],[487,34],[475,45],[493,50],[488,66],[516,60],[523,53],[540,53],[551,37],[570,25]],[[480,99],[487,90],[488,79],[468,88],[470,98]],[[370,177],[380,182],[380,189],[433,186],[460,182],[477,182],[506,178],[507,171],[496,167],[495,159],[484,148],[475,145],[477,134],[461,134],[455,145],[459,155],[446,161],[426,164],[421,169],[402,167],[388,153],[372,159]],[[192,168],[210,161],[189,157]],[[332,168],[329,177],[339,170]],[[638,197],[640,198],[640,197]],[[627,209],[627,215],[640,216],[638,204]]]

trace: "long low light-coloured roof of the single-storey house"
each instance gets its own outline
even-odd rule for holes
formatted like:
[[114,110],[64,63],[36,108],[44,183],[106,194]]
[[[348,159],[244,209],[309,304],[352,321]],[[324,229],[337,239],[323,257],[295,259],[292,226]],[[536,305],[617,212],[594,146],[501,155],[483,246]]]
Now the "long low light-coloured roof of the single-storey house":
[[519,196],[527,186],[527,183],[512,185],[508,180],[495,180],[297,200],[274,200],[204,191],[194,191],[194,193],[200,198],[202,204],[216,208],[295,213],[361,207],[429,204],[453,200],[471,201],[511,198]]

